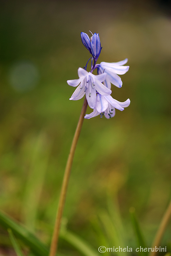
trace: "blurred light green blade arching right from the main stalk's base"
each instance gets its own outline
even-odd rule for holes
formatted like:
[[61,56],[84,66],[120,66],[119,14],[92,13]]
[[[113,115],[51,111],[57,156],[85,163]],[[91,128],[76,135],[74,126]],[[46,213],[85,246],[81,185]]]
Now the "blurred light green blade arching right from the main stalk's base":
[[61,229],[60,237],[69,242],[73,247],[75,247],[78,251],[80,251],[85,256],[98,256],[98,253],[87,244],[87,242],[83,241],[81,238],[72,234],[70,231]]

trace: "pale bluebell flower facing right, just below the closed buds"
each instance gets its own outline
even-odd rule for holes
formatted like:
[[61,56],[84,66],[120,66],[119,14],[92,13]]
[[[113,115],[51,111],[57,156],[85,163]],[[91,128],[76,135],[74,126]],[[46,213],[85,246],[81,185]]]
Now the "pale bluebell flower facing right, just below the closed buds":
[[111,89],[111,84],[114,84],[119,88],[122,86],[122,80],[118,75],[123,75],[128,71],[129,66],[123,66],[127,61],[128,59],[120,62],[101,62],[100,64],[96,64],[95,67],[98,68],[98,74],[106,74],[104,85],[107,88]]

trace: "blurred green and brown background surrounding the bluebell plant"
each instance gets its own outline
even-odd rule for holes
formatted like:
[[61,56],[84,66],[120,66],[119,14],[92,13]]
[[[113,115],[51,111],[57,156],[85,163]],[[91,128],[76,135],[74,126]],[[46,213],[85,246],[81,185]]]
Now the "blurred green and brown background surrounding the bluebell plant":
[[[47,245],[83,103],[69,101],[75,89],[66,80],[77,79],[90,57],[80,37],[89,30],[100,36],[98,63],[128,58],[112,96],[131,105],[110,120],[85,119],[63,222],[96,251],[103,242],[114,246],[112,207],[126,246],[134,247],[134,207],[149,247],[154,239],[171,196],[171,12],[161,3],[0,2],[0,209]],[[0,253],[12,255],[0,233]],[[59,251],[80,255],[62,238]]]

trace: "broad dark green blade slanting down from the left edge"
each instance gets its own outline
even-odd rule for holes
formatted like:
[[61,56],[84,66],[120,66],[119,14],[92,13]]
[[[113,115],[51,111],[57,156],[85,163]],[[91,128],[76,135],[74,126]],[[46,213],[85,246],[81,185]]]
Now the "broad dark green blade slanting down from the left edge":
[[32,252],[38,256],[48,256],[48,248],[24,228],[21,224],[17,224],[14,220],[0,211],[0,225],[6,229],[11,229],[13,234],[20,238],[27,246],[30,247]]

